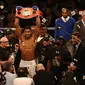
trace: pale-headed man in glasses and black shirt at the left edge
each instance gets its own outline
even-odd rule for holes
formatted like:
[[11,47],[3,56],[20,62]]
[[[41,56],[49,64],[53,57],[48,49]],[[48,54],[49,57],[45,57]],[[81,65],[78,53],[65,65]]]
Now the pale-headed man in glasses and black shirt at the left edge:
[[9,56],[9,52],[7,50],[8,47],[8,39],[6,36],[0,38],[0,60],[2,64],[6,62],[13,62],[13,59]]

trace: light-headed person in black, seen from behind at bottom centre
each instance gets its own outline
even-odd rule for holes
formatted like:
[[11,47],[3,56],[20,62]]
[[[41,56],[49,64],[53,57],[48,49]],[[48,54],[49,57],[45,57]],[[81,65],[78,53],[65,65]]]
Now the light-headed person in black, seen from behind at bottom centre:
[[35,85],[53,85],[53,74],[45,71],[43,64],[36,66],[37,74],[34,76]]

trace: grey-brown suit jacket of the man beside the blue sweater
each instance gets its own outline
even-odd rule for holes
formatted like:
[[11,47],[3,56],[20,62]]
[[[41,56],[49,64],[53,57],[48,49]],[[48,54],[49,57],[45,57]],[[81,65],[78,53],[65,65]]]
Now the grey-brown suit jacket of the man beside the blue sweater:
[[74,31],[80,32],[81,40],[85,42],[85,26],[82,23],[82,20],[79,20],[75,23]]

